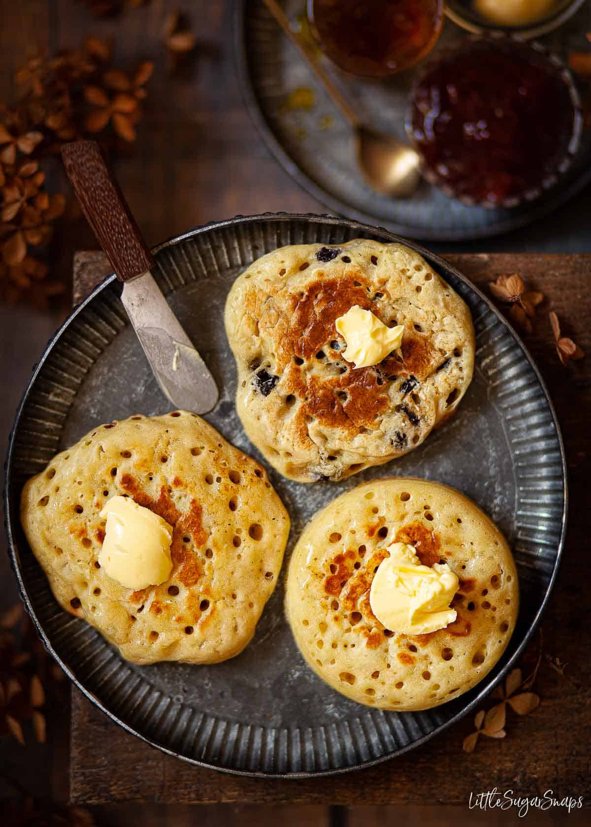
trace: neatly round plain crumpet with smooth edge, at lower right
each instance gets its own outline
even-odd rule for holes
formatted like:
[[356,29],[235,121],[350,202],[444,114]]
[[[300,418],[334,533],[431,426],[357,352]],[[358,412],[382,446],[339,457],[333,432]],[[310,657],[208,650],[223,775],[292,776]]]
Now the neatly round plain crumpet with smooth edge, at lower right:
[[[374,616],[369,591],[392,543],[458,576],[454,623],[409,635]],[[447,485],[404,477],[358,485],[316,514],[287,576],[287,618],[310,667],[383,710],[430,709],[475,686],[507,647],[518,603],[512,553],[486,514]]]

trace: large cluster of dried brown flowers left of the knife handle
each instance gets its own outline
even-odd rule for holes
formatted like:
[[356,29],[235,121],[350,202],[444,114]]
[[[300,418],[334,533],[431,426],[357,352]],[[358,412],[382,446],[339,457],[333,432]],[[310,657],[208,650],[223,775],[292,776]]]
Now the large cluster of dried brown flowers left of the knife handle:
[[0,107],[0,300],[46,307],[65,292],[31,251],[50,241],[65,209],[63,195],[46,191],[41,157],[89,131],[104,130],[115,149],[118,137],[136,137],[153,65],[144,62],[127,76],[110,65],[111,55],[111,41],[96,36],[78,49],[34,55],[15,75],[20,97]]

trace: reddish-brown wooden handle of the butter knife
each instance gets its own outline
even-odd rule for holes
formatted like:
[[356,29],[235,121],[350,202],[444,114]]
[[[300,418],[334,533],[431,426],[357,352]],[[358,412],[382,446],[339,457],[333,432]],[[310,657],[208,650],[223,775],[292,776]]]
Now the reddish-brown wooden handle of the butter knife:
[[151,252],[99,144],[72,141],[62,147],[61,157],[84,215],[118,280],[129,281],[151,270]]

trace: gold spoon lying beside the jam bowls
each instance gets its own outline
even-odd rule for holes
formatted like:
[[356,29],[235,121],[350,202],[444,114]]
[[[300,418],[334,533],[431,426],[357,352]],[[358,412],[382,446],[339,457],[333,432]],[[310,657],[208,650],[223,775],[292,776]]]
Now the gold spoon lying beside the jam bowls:
[[310,45],[293,31],[281,6],[276,0],[263,2],[291,42],[300,50],[310,69],[313,69],[316,77],[324,84],[343,117],[353,127],[359,169],[368,184],[392,198],[408,198],[412,195],[420,181],[419,154],[395,136],[366,127],[326,74]]

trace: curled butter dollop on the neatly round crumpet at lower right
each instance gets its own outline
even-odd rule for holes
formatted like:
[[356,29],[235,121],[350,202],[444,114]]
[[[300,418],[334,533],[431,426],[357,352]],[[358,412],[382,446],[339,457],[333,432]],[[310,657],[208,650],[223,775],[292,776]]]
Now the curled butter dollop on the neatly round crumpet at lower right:
[[369,591],[369,605],[380,623],[393,632],[425,634],[444,629],[456,619],[449,603],[459,580],[447,563],[421,566],[415,549],[393,543]]

